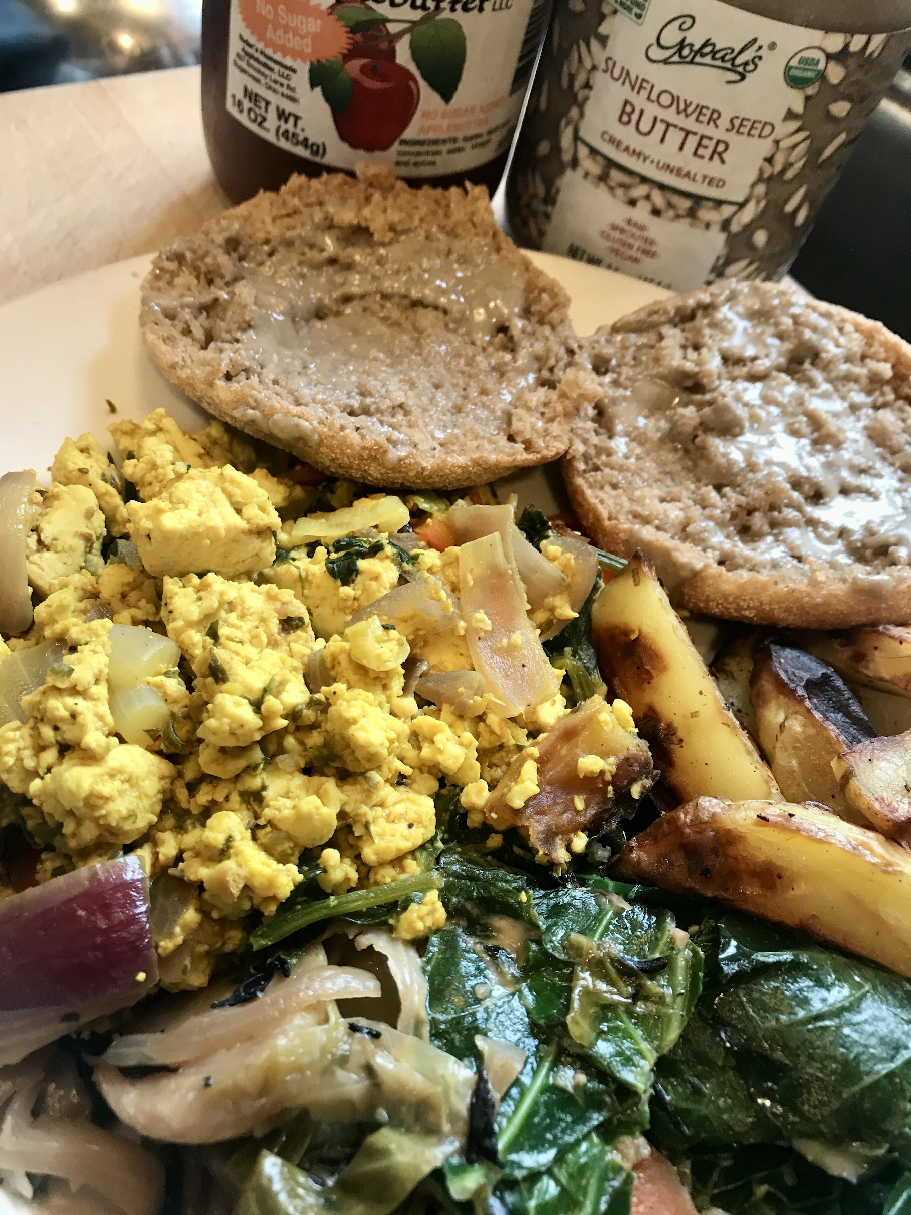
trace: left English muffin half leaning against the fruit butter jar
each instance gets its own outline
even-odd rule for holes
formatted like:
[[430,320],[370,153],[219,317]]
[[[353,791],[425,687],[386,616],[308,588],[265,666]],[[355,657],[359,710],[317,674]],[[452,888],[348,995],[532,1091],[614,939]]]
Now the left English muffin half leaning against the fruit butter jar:
[[555,459],[590,378],[568,298],[482,188],[294,177],[155,258],[146,346],[219,418],[332,473],[454,488]]

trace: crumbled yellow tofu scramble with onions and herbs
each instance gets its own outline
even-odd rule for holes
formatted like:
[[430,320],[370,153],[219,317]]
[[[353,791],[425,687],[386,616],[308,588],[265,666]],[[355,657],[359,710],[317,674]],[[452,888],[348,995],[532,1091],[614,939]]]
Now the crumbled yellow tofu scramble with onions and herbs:
[[[32,491],[34,623],[0,640],[0,826],[40,850],[33,880],[137,857],[160,981],[180,990],[204,987],[301,883],[341,894],[432,865],[421,847],[443,790],[469,826],[487,821],[491,847],[517,826],[558,872],[584,850],[592,798],[612,797],[617,757],[645,748],[628,707],[589,689],[588,792],[548,831],[532,824],[542,740],[579,699],[539,640],[577,615],[572,549],[541,544],[547,584],[514,577],[517,615],[493,593],[469,612],[477,546],[496,541],[491,577],[504,544],[503,569],[520,566],[487,525],[455,543],[451,502],[258,460],[220,423],[188,435],[160,409],[111,430],[121,476],[83,435]],[[468,501],[513,518],[490,490]],[[516,672],[517,699],[503,690]],[[21,888],[6,880],[0,893]],[[394,931],[412,940],[445,920],[430,889]]]

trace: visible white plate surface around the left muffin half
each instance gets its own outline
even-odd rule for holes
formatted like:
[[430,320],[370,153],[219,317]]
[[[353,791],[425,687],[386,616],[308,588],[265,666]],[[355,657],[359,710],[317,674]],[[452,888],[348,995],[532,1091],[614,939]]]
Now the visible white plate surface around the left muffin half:
[[[570,293],[579,334],[668,294],[567,258],[531,256]],[[137,422],[160,406],[185,429],[208,424],[208,416],[158,372],[140,340],[140,283],[149,261],[149,255],[118,261],[0,307],[0,473],[34,468],[46,480],[67,435],[89,430],[103,442],[112,422],[107,401],[118,417]],[[536,497],[543,509],[555,501],[542,492]]]

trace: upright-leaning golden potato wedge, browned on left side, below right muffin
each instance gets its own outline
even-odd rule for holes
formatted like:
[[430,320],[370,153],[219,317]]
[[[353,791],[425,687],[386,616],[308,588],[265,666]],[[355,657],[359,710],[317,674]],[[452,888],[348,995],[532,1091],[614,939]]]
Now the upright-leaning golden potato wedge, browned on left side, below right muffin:
[[781,796],[644,553],[598,597],[592,640],[601,673],[633,710],[661,780],[681,802]]

